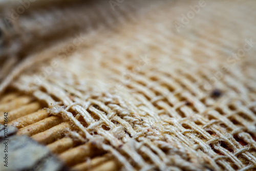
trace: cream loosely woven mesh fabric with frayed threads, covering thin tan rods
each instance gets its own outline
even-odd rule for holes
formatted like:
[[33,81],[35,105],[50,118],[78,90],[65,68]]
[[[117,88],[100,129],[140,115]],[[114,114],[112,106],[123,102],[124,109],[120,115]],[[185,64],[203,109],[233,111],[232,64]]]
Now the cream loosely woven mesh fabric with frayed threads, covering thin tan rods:
[[74,170],[256,169],[256,3],[205,1],[184,20],[195,5],[89,5],[86,29],[2,81],[47,106],[33,114],[44,122],[31,121],[47,129],[26,134]]

